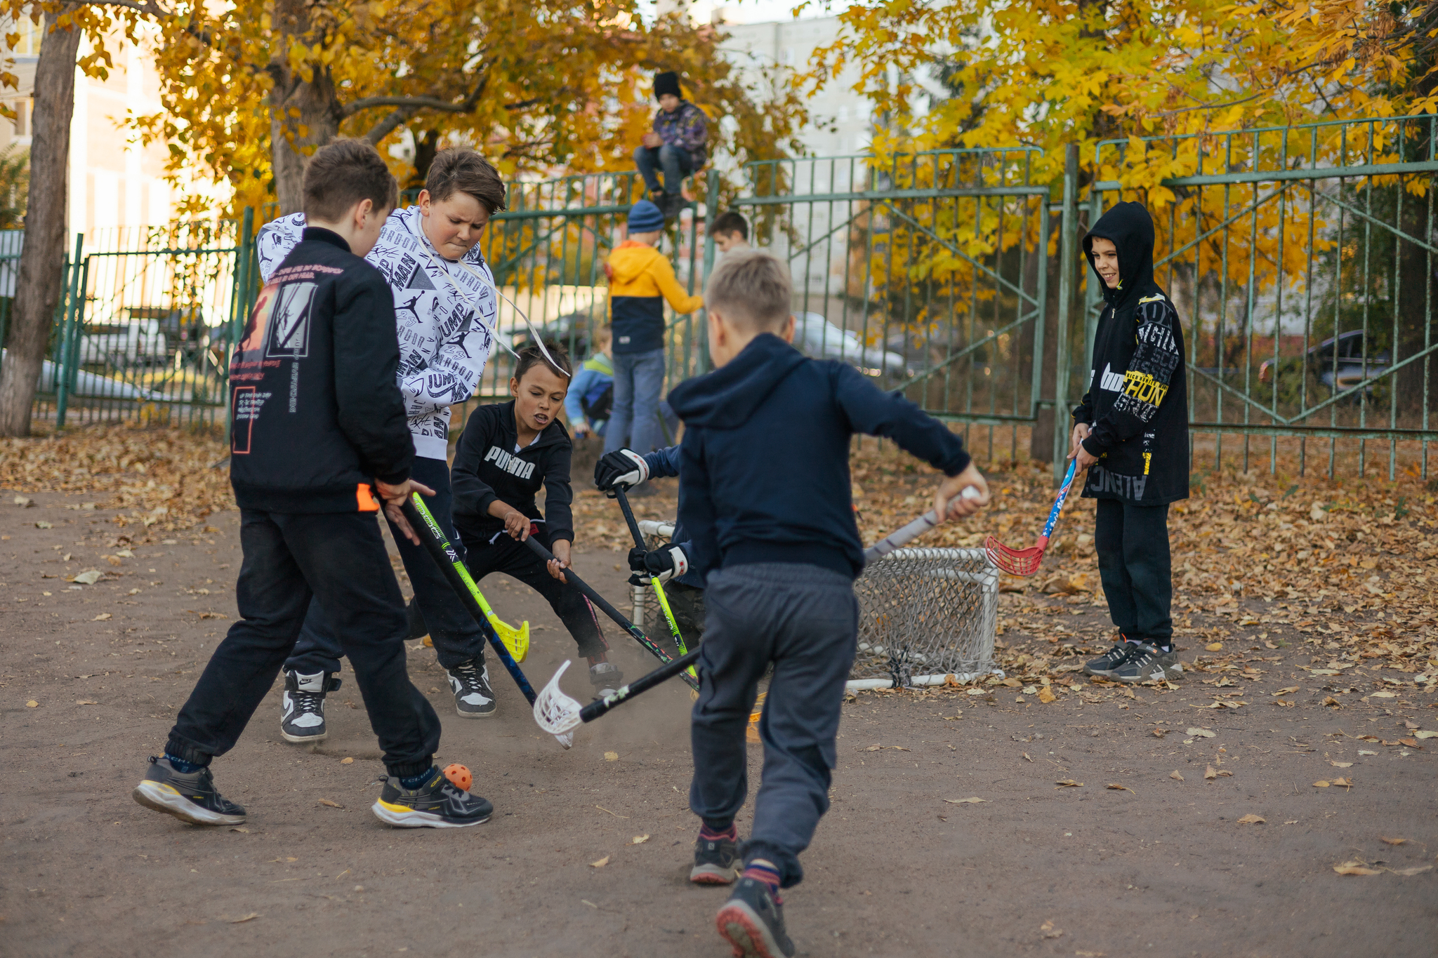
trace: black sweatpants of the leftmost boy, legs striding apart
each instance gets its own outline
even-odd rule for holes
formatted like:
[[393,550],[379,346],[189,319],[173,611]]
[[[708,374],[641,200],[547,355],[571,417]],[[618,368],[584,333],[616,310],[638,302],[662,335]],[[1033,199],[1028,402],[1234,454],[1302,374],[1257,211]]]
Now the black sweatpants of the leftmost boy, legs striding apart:
[[240,510],[240,620],[180,710],[165,751],[209,764],[239,740],[295,648],[311,597],[329,612],[391,776],[433,764],[440,720],[404,664],[404,597],[374,513]]

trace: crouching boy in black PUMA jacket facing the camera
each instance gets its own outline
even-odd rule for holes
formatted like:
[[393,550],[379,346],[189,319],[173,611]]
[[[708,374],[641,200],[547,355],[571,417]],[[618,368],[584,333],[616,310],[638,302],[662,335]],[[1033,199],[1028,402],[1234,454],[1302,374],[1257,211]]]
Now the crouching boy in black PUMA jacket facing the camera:
[[[557,343],[549,343],[548,350],[557,365],[538,346],[521,350],[509,381],[513,401],[480,406],[464,424],[450,473],[454,527],[464,541],[469,575],[479,582],[492,572],[503,572],[548,599],[580,645],[580,655],[590,659],[590,682],[607,695],[624,676],[607,661],[608,646],[588,599],[564,585],[574,543],[569,511],[574,447],[559,412],[569,389],[571,365]],[[541,487],[545,513],[535,504]],[[523,544],[531,534],[539,536],[554,553],[548,569]]]

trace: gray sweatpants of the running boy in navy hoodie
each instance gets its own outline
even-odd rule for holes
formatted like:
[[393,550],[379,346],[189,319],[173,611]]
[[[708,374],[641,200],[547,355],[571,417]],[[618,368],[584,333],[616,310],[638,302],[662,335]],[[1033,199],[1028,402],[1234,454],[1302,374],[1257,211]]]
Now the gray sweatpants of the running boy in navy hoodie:
[[719,829],[738,814],[749,791],[745,727],[759,678],[774,662],[759,720],[764,778],[745,859],[774,862],[789,888],[804,878],[800,852],[828,811],[834,735],[858,639],[854,583],[818,566],[731,566],[710,573],[705,605],[689,807]]

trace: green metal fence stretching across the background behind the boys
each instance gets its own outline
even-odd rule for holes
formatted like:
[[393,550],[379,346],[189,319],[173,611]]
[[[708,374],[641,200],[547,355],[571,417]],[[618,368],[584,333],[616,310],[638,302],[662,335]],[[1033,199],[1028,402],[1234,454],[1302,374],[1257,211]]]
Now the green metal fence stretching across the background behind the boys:
[[[716,261],[707,223],[720,191],[735,197],[754,246],[792,267],[801,349],[962,422],[981,457],[1024,458],[1027,444],[1057,473],[1100,303],[1078,237],[1106,207],[1140,200],[1155,210],[1156,279],[1188,333],[1195,470],[1278,471],[1291,457],[1303,473],[1317,457],[1330,475],[1363,474],[1378,454],[1389,477],[1426,477],[1435,124],[1106,141],[1087,172],[1073,148],[1051,182],[1035,181],[1040,151],[1024,147],[766,161],[728,184],[715,171],[689,181],[693,203],[660,248],[702,290]],[[1153,181],[1155,161],[1185,175]],[[483,240],[506,343],[532,323],[588,355],[608,317],[604,261],[641,195],[633,172],[512,184]],[[223,422],[229,345],[259,284],[257,225],[247,213],[78,240],[37,414]],[[673,386],[709,368],[705,320],[666,323]],[[470,405],[508,396],[512,369],[498,350]],[[1047,417],[1058,428],[1040,441]]]

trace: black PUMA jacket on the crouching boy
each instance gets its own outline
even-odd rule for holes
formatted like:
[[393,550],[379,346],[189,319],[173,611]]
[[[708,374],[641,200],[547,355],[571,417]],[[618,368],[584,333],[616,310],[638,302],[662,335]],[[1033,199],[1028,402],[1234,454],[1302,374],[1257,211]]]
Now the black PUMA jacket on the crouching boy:
[[[574,541],[569,503],[569,455],[574,445],[564,424],[555,419],[526,448],[518,442],[513,401],[480,406],[469,417],[454,450],[450,485],[454,493],[454,526],[467,540],[489,541],[505,523],[489,514],[495,500],[513,506],[541,523],[544,539]],[[545,513],[535,506],[535,493],[545,490]]]

